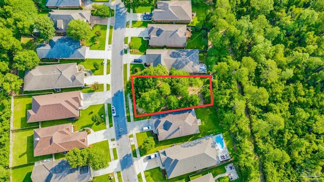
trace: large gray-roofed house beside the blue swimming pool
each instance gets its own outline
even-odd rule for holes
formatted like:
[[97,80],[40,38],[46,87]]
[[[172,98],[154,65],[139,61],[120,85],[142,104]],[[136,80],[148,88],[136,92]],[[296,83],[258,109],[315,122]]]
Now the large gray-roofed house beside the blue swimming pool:
[[220,164],[211,136],[162,149],[158,153],[169,179]]

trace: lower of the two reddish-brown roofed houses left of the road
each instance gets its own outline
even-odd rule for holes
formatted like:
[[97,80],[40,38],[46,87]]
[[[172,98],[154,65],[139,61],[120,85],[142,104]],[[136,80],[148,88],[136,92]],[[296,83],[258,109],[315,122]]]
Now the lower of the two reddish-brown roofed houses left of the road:
[[73,132],[71,123],[34,129],[34,157],[86,147],[87,132]]

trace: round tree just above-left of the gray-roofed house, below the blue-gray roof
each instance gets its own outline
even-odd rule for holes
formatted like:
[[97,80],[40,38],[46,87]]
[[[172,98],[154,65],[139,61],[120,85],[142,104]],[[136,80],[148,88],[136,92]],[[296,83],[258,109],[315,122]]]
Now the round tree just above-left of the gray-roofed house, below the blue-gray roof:
[[32,69],[39,63],[39,58],[33,50],[18,51],[13,60],[15,62],[13,67],[23,71],[26,69]]

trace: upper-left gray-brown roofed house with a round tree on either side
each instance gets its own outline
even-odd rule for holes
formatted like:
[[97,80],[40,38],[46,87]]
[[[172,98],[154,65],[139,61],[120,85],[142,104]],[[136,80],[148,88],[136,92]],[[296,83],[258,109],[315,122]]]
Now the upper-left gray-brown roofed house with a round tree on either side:
[[54,22],[55,31],[57,33],[65,33],[67,24],[71,20],[82,20],[91,22],[91,11],[89,10],[52,10],[49,17]]

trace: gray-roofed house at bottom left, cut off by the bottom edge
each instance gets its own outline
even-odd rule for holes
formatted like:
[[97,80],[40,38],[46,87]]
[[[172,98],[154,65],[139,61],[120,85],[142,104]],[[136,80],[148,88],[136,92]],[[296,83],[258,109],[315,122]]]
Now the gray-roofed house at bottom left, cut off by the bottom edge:
[[62,159],[35,165],[30,178],[33,182],[88,182],[92,180],[92,171],[89,166],[71,168]]

